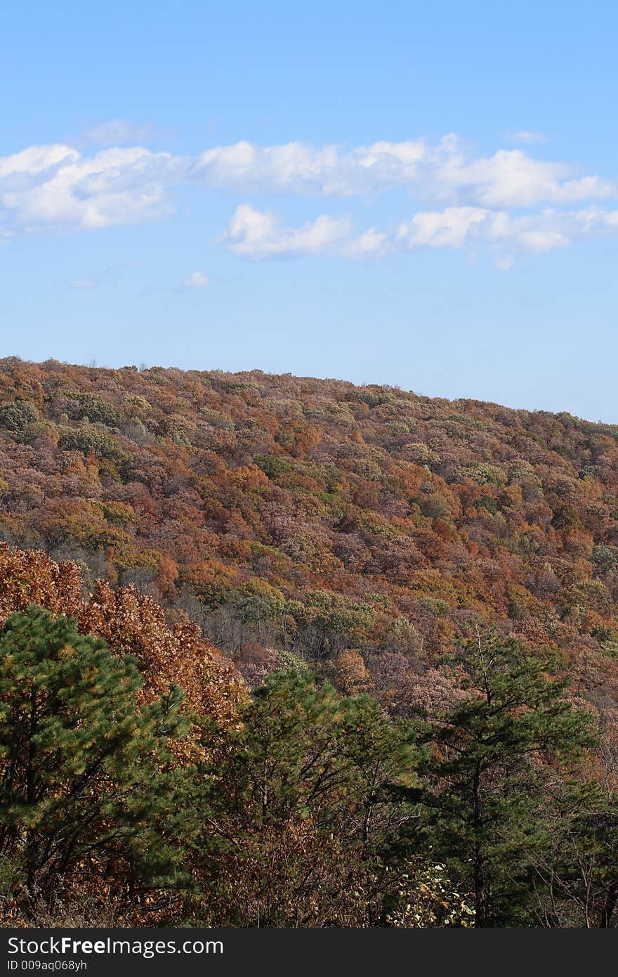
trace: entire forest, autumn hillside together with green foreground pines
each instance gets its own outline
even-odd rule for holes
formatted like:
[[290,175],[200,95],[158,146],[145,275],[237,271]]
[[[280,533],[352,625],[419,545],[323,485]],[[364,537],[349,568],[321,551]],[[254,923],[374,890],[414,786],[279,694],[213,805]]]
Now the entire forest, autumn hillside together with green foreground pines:
[[0,361],[0,913],[615,926],[618,427]]

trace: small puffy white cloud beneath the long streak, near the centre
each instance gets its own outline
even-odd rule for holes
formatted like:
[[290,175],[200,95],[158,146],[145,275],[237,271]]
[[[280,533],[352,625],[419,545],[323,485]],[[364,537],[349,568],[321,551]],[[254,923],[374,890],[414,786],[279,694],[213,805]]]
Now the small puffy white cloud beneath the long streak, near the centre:
[[282,228],[273,214],[244,203],[236,208],[220,239],[244,258],[292,258],[330,251],[349,233],[346,217],[323,214],[302,228]]

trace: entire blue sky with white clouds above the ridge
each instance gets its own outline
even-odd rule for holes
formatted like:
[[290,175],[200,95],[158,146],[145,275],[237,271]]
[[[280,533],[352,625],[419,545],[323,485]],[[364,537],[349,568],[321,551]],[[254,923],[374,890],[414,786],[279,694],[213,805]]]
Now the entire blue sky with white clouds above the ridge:
[[5,0],[0,354],[618,422],[618,6]]

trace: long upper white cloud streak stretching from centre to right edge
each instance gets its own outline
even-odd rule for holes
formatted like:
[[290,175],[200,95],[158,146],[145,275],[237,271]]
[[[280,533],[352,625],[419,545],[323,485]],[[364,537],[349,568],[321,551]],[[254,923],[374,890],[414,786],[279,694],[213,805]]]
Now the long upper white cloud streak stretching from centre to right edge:
[[474,158],[456,136],[433,145],[380,142],[349,152],[301,143],[237,143],[202,153],[191,176],[215,187],[328,196],[406,188],[421,199],[480,206],[529,207],[618,195],[608,180],[579,177],[564,163],[537,160],[522,149]]

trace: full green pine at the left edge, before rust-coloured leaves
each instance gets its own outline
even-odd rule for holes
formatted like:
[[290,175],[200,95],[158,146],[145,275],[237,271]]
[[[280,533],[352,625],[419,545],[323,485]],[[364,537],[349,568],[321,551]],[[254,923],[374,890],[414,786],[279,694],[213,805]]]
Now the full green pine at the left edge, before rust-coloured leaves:
[[30,895],[95,858],[163,871],[180,693],[144,706],[141,684],[132,659],[73,619],[30,606],[0,630],[0,852]]

